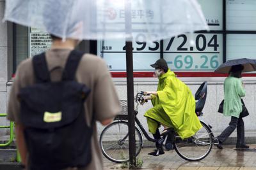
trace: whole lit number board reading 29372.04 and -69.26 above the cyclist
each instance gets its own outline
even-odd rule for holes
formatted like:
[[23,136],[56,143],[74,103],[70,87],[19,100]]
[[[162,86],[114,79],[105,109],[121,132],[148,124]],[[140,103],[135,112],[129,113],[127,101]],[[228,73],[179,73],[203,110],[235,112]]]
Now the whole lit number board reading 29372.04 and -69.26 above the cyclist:
[[[160,42],[144,42],[137,34],[132,43],[134,71],[152,71],[150,64],[160,58]],[[191,45],[190,41],[195,45]],[[110,71],[125,71],[125,41],[101,41],[98,53]],[[214,71],[222,63],[221,34],[181,34],[164,39],[163,56],[173,71]]]

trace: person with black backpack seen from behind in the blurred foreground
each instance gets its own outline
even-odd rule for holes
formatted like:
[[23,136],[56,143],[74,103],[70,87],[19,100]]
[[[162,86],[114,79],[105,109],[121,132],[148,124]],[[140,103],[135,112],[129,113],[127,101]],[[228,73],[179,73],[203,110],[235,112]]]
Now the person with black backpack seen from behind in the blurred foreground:
[[[52,46],[50,50],[47,50],[45,52],[45,55],[43,57],[38,57],[36,55],[35,57],[37,59],[45,59],[45,63],[47,65],[46,72],[44,72],[46,75],[49,73],[50,81],[51,82],[60,82],[64,81],[64,79],[70,78],[70,80],[65,81],[65,85],[68,85],[68,87],[72,87],[76,89],[77,87],[83,87],[78,90],[84,90],[83,94],[78,94],[75,92],[74,89],[68,88],[68,93],[65,93],[63,91],[63,94],[58,94],[60,96],[61,101],[67,102],[67,104],[58,103],[57,105],[61,105],[61,108],[65,108],[61,111],[58,111],[58,113],[49,113],[50,111],[45,110],[42,114],[44,114],[44,120],[43,118],[38,119],[35,114],[36,110],[40,110],[41,105],[44,106],[44,104],[40,105],[40,102],[44,101],[44,97],[38,96],[35,98],[35,103],[29,105],[29,109],[35,111],[35,117],[33,113],[30,113],[30,117],[35,118],[35,120],[30,120],[30,117],[25,117],[25,113],[22,112],[24,108],[27,108],[25,106],[26,99],[24,99],[24,94],[26,93],[24,89],[35,87],[35,83],[38,82],[38,76],[40,76],[43,71],[39,71],[39,73],[35,73],[36,69],[35,66],[42,67],[42,64],[44,65],[44,62],[40,65],[34,65],[34,59],[29,58],[27,60],[24,60],[19,64],[19,67],[17,68],[17,72],[15,74],[15,80],[13,81],[12,90],[10,93],[10,98],[8,101],[8,119],[15,122],[15,133],[16,133],[16,140],[17,140],[17,148],[20,153],[21,157],[21,163],[22,167],[24,169],[96,169],[96,170],[102,170],[103,169],[103,162],[102,162],[102,153],[100,151],[99,142],[97,139],[97,127],[95,124],[95,121],[99,121],[102,125],[108,125],[113,120],[113,117],[117,113],[120,112],[120,104],[118,97],[116,95],[115,87],[113,85],[113,81],[111,79],[111,75],[108,71],[108,68],[106,67],[106,63],[104,60],[100,59],[100,57],[97,57],[92,54],[82,54],[81,59],[76,61],[76,57],[79,57],[79,52],[74,51],[74,48],[78,45],[79,41],[76,39],[66,39],[63,41],[61,38],[58,38],[57,36],[52,35]],[[78,55],[77,55],[78,53]],[[74,56],[76,54],[77,56]],[[81,52],[80,52],[81,54]],[[73,56],[72,56],[73,55]],[[70,63],[72,63],[70,65]],[[77,66],[74,66],[74,64],[77,64]],[[68,67],[68,68],[67,68]],[[45,68],[45,67],[42,67]],[[64,70],[64,71],[63,71]],[[73,72],[68,70],[73,70]],[[63,73],[65,72],[65,74]],[[37,75],[38,74],[38,75]],[[74,77],[72,77],[72,75]],[[41,74],[42,76],[42,74]],[[45,75],[43,75],[45,76]],[[65,76],[64,78],[62,76]],[[71,81],[72,80],[72,81]],[[71,82],[71,83],[70,83]],[[49,84],[49,83],[48,83]],[[60,85],[58,83],[55,83],[54,85]],[[44,86],[44,83],[38,83],[36,86]],[[35,87],[36,88],[36,87]],[[44,88],[46,88],[44,86]],[[65,88],[65,87],[63,87]],[[52,89],[51,89],[52,90]],[[58,90],[58,89],[56,89]],[[90,92],[90,93],[89,93]],[[74,97],[77,101],[70,101],[69,97],[68,99],[65,98],[65,95],[74,94],[71,97]],[[44,94],[42,94],[44,95]],[[52,91],[52,101],[54,100],[54,90]],[[77,96],[79,95],[79,96]],[[31,93],[31,96],[34,96],[34,94]],[[55,95],[56,96],[56,95]],[[23,97],[23,98],[22,98]],[[46,96],[49,97],[49,96]],[[29,97],[28,97],[29,98]],[[85,100],[86,98],[86,100]],[[51,97],[49,97],[51,100]],[[58,98],[59,99],[59,98]],[[47,101],[46,101],[47,102]],[[68,105],[68,103],[72,103]],[[25,103],[25,104],[24,104]],[[76,108],[75,105],[77,103],[81,103],[80,108]],[[22,106],[24,104],[24,106]],[[38,106],[36,106],[38,104]],[[51,105],[51,103],[50,103]],[[67,107],[65,107],[67,106]],[[79,105],[80,106],[80,105]],[[51,106],[51,107],[55,107]],[[49,110],[51,110],[51,107],[49,107]],[[57,107],[57,106],[56,106]],[[72,108],[74,110],[70,111],[69,109]],[[76,118],[76,110],[81,110],[81,117]],[[29,112],[29,111],[28,111]],[[70,115],[65,115],[66,113],[70,113]],[[25,115],[22,115],[25,114]],[[38,113],[41,114],[41,113]],[[61,115],[62,114],[62,115]],[[80,115],[80,114],[79,114]],[[69,118],[68,118],[69,117]],[[75,119],[76,118],[76,119]],[[41,120],[42,119],[42,120]],[[65,126],[72,124],[70,120],[76,120],[77,122],[84,122],[84,124],[81,124],[81,127],[85,128],[79,128],[77,131],[75,129],[65,129]],[[63,120],[63,121],[62,121]],[[38,128],[36,127],[35,122],[39,122]],[[26,126],[24,124],[29,124],[29,126]],[[77,123],[78,124],[78,123]],[[74,127],[76,127],[77,124],[72,124]],[[85,125],[86,124],[86,125]],[[92,125],[92,131],[88,130],[89,127]],[[55,136],[53,139],[50,138],[49,134],[45,132],[45,129],[47,127],[51,127],[49,129],[49,133],[52,133],[52,136]],[[56,128],[58,127],[58,128]],[[68,126],[69,127],[69,126]],[[31,142],[33,140],[33,137],[35,135],[31,135],[31,129],[33,128],[33,131],[35,131],[35,135],[38,134],[38,129],[41,129],[45,132],[45,140],[41,140],[40,143],[46,143],[44,149],[42,150],[36,150],[36,148],[31,148],[34,144]],[[63,129],[64,128],[64,129]],[[57,130],[59,129],[59,132],[68,132],[69,134],[63,134],[59,133]],[[71,139],[70,136],[75,135],[76,133],[82,134],[81,136],[87,135],[84,133],[90,133],[90,138],[84,139],[84,141],[88,141],[90,143],[89,146],[81,145],[82,138],[77,139]],[[61,141],[56,137],[55,133],[61,136]],[[89,135],[89,134],[88,134]],[[64,137],[63,137],[64,136]],[[36,136],[36,138],[43,138],[42,135]],[[65,138],[65,139],[62,139]],[[58,148],[58,142],[61,143],[61,145],[70,145],[70,143],[65,143],[65,141],[74,143],[73,148],[70,152],[66,152],[68,148],[62,148],[62,150],[58,150],[58,152],[54,151],[52,148]],[[54,143],[56,146],[54,146]],[[40,144],[41,145],[41,144]],[[82,146],[81,148],[79,148]],[[83,148],[87,148],[88,150],[84,151]],[[43,155],[43,152],[45,154],[45,150],[47,152],[52,153],[49,155]],[[81,153],[81,155],[73,154],[73,151],[77,150],[77,153]],[[42,155],[41,155],[42,152]],[[81,160],[83,154],[90,154],[87,157],[87,160]],[[37,154],[33,154],[37,153]],[[53,155],[55,154],[55,157]],[[76,159],[74,159],[73,156],[76,156]],[[39,157],[39,159],[34,160],[35,157]],[[47,157],[50,157],[51,159],[58,160],[58,164],[55,162],[49,163],[49,161],[52,161],[51,159],[48,159]],[[61,159],[68,160],[72,162],[72,164],[69,164],[67,162],[61,162]],[[39,162],[39,163],[38,163]],[[44,163],[42,163],[44,162]],[[88,162],[88,163],[84,163]],[[63,167],[63,168],[60,168]]]

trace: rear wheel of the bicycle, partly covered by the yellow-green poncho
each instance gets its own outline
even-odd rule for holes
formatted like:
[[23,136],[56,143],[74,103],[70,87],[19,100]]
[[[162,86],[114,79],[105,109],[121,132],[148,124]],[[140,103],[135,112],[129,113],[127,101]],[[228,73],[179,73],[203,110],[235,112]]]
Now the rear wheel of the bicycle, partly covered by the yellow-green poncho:
[[214,143],[211,129],[204,122],[201,124],[203,127],[190,138],[181,139],[179,136],[175,136],[174,148],[183,159],[201,160],[211,152]]

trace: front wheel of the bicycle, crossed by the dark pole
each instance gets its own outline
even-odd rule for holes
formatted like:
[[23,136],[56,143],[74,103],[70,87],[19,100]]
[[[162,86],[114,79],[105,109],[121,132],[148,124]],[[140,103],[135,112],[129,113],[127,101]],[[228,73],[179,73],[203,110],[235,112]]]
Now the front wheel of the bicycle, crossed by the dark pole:
[[[141,132],[135,127],[136,155],[143,145]],[[109,124],[100,134],[100,147],[103,155],[116,163],[129,160],[128,122],[118,121]]]

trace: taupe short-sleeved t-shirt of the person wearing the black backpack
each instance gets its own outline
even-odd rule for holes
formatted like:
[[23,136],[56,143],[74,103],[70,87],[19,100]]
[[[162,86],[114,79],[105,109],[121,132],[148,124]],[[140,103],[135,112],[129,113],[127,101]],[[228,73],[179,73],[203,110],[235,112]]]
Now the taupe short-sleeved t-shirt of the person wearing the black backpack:
[[[65,67],[70,52],[71,50],[68,49],[47,51],[45,56],[48,69],[51,70],[56,66]],[[32,59],[24,60],[17,68],[15,81],[12,85],[8,102],[7,118],[9,120],[16,123],[20,122],[20,102],[17,95],[22,87],[32,85],[34,79]],[[52,81],[58,81],[60,79],[61,71],[51,73]],[[80,83],[84,83],[92,90],[84,103],[88,125],[90,124],[92,114],[95,115],[95,120],[102,121],[113,118],[120,112],[120,104],[116,90],[104,60],[92,54],[84,54],[77,67],[76,80]],[[102,153],[99,147],[97,127],[95,124],[92,137],[92,162],[83,170],[86,169],[103,169]]]

